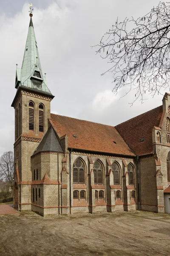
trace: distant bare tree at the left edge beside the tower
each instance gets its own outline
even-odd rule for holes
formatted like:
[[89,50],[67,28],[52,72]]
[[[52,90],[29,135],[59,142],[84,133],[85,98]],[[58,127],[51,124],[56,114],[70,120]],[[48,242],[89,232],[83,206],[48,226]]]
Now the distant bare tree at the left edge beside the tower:
[[0,157],[0,178],[7,180],[13,185],[14,177],[14,154],[12,151],[3,153]]

